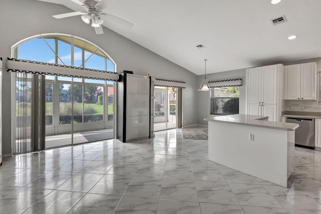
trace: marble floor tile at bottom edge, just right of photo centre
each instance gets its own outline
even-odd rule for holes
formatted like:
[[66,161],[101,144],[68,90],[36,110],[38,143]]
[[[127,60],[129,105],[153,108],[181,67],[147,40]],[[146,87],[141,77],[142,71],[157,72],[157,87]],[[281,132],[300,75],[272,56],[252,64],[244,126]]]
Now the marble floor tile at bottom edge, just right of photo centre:
[[157,214],[201,214],[200,204],[194,201],[159,200]]

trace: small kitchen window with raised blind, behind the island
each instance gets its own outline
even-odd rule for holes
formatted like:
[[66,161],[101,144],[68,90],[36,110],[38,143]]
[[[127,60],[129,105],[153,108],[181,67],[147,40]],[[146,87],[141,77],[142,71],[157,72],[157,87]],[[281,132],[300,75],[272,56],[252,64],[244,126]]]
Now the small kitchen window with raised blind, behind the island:
[[211,115],[239,114],[239,86],[213,87],[210,91]]

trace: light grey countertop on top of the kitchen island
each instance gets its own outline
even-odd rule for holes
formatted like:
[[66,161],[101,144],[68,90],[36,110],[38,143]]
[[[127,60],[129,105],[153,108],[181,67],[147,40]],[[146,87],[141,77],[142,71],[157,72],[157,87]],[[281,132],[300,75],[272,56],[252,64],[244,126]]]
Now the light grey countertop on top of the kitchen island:
[[286,131],[296,130],[299,125],[293,123],[264,121],[268,117],[254,116],[254,115],[226,115],[218,117],[205,118],[205,121],[214,121],[221,123],[233,123],[245,126],[255,126],[268,129],[279,129]]

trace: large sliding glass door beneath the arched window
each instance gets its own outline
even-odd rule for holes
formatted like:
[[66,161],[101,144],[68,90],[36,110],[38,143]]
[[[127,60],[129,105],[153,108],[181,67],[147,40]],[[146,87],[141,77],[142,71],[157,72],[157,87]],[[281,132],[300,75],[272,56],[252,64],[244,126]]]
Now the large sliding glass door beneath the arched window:
[[35,83],[40,89],[33,89],[38,75],[33,76],[16,74],[15,154],[37,151],[32,139],[41,140],[32,137],[35,129],[45,136],[39,150],[114,137],[112,81],[47,75]]

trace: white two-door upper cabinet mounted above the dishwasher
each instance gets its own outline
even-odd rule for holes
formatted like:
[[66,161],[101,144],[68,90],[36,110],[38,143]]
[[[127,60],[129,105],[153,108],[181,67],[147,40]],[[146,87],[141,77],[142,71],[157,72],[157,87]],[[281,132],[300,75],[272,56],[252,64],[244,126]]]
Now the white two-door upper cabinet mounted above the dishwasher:
[[285,66],[284,99],[316,98],[316,63]]

